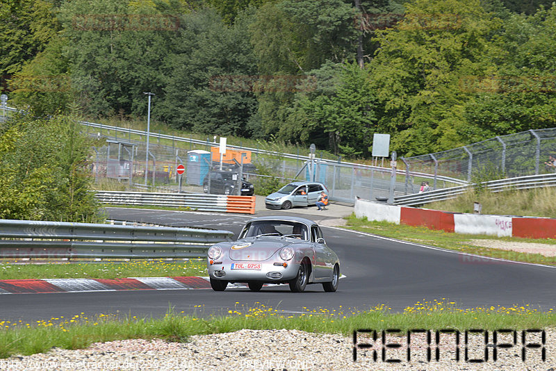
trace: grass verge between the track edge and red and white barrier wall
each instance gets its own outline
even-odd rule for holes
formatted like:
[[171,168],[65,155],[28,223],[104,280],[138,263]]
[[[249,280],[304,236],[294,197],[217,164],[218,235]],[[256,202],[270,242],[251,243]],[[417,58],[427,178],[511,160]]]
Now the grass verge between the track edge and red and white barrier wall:
[[515,237],[496,237],[484,235],[471,235],[463,233],[450,233],[445,231],[435,231],[425,226],[408,226],[404,224],[394,224],[389,222],[370,222],[366,218],[359,219],[355,215],[347,217],[347,228],[355,231],[377,234],[379,236],[397,238],[398,240],[417,242],[424,245],[441,247],[443,249],[455,250],[477,254],[480,256],[491,256],[511,261],[522,261],[527,263],[539,263],[546,265],[556,265],[556,256],[547,257],[541,254],[527,254],[512,252],[502,249],[491,249],[473,245],[472,240],[499,240],[510,242],[534,242],[548,245],[556,245],[556,240],[550,239],[528,239]]

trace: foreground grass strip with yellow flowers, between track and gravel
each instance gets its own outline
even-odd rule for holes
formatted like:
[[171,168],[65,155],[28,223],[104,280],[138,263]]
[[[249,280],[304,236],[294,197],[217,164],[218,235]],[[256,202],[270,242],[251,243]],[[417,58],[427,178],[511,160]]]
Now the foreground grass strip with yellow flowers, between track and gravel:
[[[203,311],[202,306],[197,306]],[[51,318],[35,323],[0,321],[0,358],[14,354],[47,352],[51,347],[81,349],[97,342],[133,338],[162,338],[186,342],[197,334],[224,333],[240,329],[297,329],[316,333],[341,333],[350,336],[358,329],[534,329],[556,326],[552,309],[539,312],[528,306],[458,309],[451,302],[416,303],[402,313],[390,313],[386,306],[375,306],[368,311],[350,308],[329,311],[306,310],[300,315],[284,315],[276,308],[262,304],[240,306],[228,315],[184,315],[168,311],[161,319],[117,318],[114,315],[84,313],[72,318]]]

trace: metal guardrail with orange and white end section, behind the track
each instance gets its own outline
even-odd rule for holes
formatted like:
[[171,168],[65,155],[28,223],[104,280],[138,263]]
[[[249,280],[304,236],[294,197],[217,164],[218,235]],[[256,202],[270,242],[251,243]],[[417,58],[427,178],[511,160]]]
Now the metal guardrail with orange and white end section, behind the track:
[[95,198],[103,204],[166,206],[191,208],[194,211],[254,214],[253,196],[205,195],[197,193],[156,193],[97,191]]

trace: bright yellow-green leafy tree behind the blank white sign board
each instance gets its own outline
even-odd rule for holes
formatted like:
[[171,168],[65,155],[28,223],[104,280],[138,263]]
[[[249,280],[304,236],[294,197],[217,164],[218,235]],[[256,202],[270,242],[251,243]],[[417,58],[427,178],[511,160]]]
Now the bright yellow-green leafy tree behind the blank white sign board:
[[479,0],[416,0],[393,29],[377,32],[373,85],[379,126],[398,133],[394,149],[423,154],[477,138],[464,118],[473,93],[460,81],[496,71],[500,49],[491,38],[501,24]]

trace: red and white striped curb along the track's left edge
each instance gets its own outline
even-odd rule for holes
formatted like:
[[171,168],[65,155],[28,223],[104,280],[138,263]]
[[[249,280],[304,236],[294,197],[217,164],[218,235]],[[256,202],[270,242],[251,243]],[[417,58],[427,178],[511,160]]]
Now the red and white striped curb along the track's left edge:
[[[234,284],[229,287],[245,287]],[[98,292],[123,290],[196,290],[211,288],[208,277],[136,277],[124,279],[3,279],[2,294]]]

